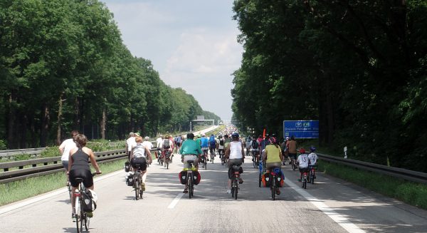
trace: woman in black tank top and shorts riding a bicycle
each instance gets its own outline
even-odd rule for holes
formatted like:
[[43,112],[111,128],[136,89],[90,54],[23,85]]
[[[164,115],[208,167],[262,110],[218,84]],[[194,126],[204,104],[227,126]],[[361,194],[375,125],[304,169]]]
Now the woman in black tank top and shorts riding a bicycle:
[[[75,145],[73,149],[70,150],[70,156],[68,157],[68,172],[67,174],[70,176],[70,184],[71,184],[71,192],[74,193],[75,189],[78,187],[78,182],[76,178],[83,178],[83,185],[89,190],[93,190],[93,177],[90,172],[90,167],[88,164],[88,160],[92,163],[93,167],[95,167],[96,173],[100,174],[100,167],[97,165],[95,160],[95,155],[93,151],[88,147],[85,147],[88,142],[88,138],[86,138],[83,134],[78,134],[75,136]],[[71,199],[71,205],[73,206],[73,214],[71,217],[74,218],[75,208],[74,208],[74,198]],[[92,217],[91,215],[90,217]]]

